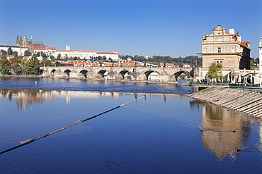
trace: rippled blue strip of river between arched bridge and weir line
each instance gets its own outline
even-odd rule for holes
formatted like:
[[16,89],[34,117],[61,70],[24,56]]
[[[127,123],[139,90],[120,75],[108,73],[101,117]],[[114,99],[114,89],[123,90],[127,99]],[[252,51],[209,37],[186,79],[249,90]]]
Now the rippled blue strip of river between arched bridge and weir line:
[[185,80],[178,84],[148,84],[147,82],[125,83],[119,81],[100,82],[96,80],[0,78],[1,89],[45,89],[92,92],[144,92],[157,94],[191,94],[193,87],[183,86]]

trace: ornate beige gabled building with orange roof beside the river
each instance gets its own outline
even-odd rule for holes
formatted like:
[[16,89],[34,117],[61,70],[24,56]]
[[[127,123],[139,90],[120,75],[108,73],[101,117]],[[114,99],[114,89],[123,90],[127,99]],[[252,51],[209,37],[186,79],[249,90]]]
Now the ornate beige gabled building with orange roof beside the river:
[[238,32],[235,34],[234,29],[227,32],[221,25],[217,25],[211,35],[203,35],[203,77],[213,62],[222,63],[223,75],[233,70],[249,69],[250,51],[249,41],[241,42]]

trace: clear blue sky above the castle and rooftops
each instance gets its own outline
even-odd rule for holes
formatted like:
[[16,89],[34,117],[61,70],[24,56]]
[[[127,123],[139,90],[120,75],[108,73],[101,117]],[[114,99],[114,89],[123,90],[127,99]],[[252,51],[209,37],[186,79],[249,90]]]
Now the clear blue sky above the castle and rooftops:
[[15,45],[26,31],[33,41],[65,49],[121,55],[198,55],[217,25],[234,28],[258,57],[260,0],[8,0],[1,1],[0,44]]

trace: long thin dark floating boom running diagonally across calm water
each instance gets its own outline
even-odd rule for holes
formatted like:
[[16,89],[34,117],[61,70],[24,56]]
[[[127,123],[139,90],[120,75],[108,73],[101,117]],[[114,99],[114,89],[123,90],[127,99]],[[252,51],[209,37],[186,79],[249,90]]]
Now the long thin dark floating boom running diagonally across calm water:
[[[139,97],[139,98],[137,98],[137,99],[134,99],[134,100],[132,100],[132,101],[137,101],[137,100],[142,99],[142,98],[144,98],[144,97],[147,97],[147,95],[144,95],[144,96]],[[91,119],[93,119],[93,118],[96,118],[96,117],[98,117],[98,116],[101,116],[101,115],[103,115],[103,114],[105,114],[105,113],[108,113],[108,112],[113,111],[113,110],[115,110],[115,109],[117,109],[117,108],[120,108],[120,107],[122,107],[122,106],[125,106],[126,104],[129,104],[129,103],[131,103],[132,101],[127,101],[125,104],[121,104],[121,105],[119,105],[119,106],[116,106],[115,108],[111,108],[110,110],[105,111],[105,112],[103,112],[103,113],[99,113],[99,114],[96,115],[96,116],[92,116],[92,117],[86,118],[86,119],[84,119],[84,120],[77,120],[76,123],[74,123],[74,124],[72,124],[72,125],[67,125],[67,126],[64,127],[64,128],[61,128],[61,129],[59,129],[59,130],[55,130],[55,131],[50,132],[50,133],[48,133],[48,134],[46,134],[46,135],[42,135],[41,137],[37,137],[37,138],[35,138],[35,139],[28,139],[28,140],[26,140],[26,141],[23,141],[22,144],[19,144],[18,146],[12,147],[12,148],[7,149],[7,150],[5,150],[5,151],[1,151],[0,154],[4,154],[4,153],[6,153],[6,152],[8,152],[8,151],[12,151],[12,150],[17,149],[17,148],[19,148],[19,147],[23,147],[23,146],[25,146],[26,144],[30,144],[30,143],[32,143],[32,142],[35,142],[35,141],[38,140],[38,139],[41,139],[41,138],[44,138],[44,137],[53,135],[53,134],[55,134],[55,133],[57,133],[57,132],[60,132],[60,131],[65,130],[65,129],[67,129],[67,128],[70,128],[70,127],[72,127],[73,125],[78,125],[78,124],[83,123],[83,122],[85,122],[85,121],[87,121],[87,120],[91,120]]]

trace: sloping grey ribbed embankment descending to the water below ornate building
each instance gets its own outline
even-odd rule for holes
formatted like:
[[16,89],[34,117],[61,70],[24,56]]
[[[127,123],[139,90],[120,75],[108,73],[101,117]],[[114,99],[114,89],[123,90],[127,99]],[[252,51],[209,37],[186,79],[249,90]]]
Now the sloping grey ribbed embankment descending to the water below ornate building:
[[211,87],[189,94],[194,99],[262,118],[262,94],[237,89]]

